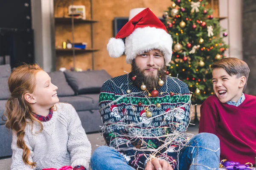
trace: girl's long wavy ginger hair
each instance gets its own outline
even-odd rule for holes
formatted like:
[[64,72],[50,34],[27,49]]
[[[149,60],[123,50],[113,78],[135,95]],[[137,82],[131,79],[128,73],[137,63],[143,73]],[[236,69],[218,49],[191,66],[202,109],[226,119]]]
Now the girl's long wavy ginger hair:
[[25,94],[32,94],[35,91],[36,74],[42,71],[39,65],[21,65],[17,67],[8,79],[11,97],[6,102],[6,127],[17,134],[17,147],[23,149],[23,161],[25,164],[35,167],[35,162],[29,161],[30,150],[24,141],[25,127],[27,123],[38,122],[43,130],[42,123],[33,116],[32,107],[25,100]]

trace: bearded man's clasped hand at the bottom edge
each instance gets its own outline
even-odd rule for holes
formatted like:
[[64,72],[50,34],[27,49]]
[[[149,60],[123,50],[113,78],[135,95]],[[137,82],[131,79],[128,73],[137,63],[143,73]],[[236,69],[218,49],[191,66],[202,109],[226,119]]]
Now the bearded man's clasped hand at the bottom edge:
[[158,160],[157,158],[151,159],[147,162],[145,170],[173,170],[172,166],[164,160]]

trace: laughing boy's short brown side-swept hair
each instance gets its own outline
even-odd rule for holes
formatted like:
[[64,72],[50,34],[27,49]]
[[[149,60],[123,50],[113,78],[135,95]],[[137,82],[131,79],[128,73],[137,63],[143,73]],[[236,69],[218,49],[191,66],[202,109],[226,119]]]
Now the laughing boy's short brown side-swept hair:
[[[247,85],[247,79],[250,73],[250,68],[247,63],[242,61],[241,59],[227,57],[223,58],[219,61],[216,61],[211,65],[212,70],[215,68],[224,68],[227,71],[227,74],[230,76],[236,75],[237,78],[244,76],[246,78],[246,82],[244,85],[244,89]],[[244,91],[243,89],[243,91]]]

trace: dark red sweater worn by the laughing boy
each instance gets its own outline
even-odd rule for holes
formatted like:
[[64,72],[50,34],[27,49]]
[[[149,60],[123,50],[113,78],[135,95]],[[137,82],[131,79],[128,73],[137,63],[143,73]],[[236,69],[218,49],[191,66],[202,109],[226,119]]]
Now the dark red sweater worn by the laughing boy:
[[244,96],[238,107],[221,103],[215,95],[209,96],[201,105],[199,133],[218,136],[221,160],[250,162],[255,166],[256,96]]

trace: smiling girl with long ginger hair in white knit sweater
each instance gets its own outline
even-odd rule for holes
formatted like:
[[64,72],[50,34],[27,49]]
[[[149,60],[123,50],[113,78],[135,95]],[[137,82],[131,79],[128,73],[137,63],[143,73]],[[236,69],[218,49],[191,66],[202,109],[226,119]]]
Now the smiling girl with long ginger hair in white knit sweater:
[[38,65],[17,67],[8,80],[6,127],[12,129],[12,170],[71,165],[89,170],[91,145],[76,110],[58,103],[58,87]]

